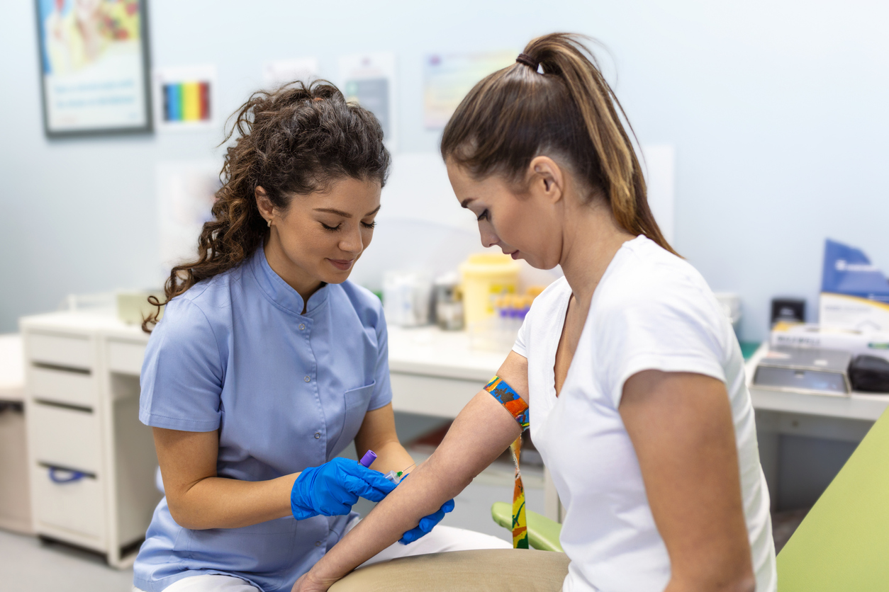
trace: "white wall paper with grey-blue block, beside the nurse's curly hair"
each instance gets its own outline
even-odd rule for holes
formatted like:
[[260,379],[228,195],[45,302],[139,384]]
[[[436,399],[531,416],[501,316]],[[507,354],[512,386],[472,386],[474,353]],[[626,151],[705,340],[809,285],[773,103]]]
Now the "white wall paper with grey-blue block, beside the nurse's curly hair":
[[340,58],[340,91],[346,100],[376,115],[389,150],[398,140],[395,111],[395,54],[390,51],[356,53]]

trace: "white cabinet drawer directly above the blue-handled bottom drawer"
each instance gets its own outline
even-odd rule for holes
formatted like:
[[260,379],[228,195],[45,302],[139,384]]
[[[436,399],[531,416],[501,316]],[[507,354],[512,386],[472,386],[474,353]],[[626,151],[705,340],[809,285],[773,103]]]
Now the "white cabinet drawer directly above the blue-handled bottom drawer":
[[34,430],[37,462],[90,473],[101,472],[99,417],[95,413],[35,403],[28,429]]

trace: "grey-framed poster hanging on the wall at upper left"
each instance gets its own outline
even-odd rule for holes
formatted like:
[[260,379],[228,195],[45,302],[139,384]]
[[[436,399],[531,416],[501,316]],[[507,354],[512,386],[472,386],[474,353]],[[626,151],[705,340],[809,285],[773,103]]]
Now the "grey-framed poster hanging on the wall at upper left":
[[35,0],[51,138],[152,130],[146,0]]

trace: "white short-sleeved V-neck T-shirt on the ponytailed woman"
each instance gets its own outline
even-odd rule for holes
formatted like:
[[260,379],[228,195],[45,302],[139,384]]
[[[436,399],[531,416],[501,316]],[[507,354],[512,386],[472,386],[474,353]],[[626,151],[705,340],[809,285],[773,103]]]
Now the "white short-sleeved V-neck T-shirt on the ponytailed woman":
[[563,591],[661,592],[669,582],[667,549],[618,413],[627,379],[655,369],[725,383],[757,592],[773,592],[769,494],[744,360],[701,274],[644,236],[625,242],[596,288],[556,397],[553,367],[571,294],[562,278],[538,296],[513,348],[528,359],[531,436],[566,510],[560,540],[571,565]]

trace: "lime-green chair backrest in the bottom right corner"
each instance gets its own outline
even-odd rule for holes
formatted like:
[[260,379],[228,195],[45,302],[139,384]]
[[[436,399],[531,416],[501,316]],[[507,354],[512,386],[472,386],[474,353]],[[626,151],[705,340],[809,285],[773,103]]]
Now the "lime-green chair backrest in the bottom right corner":
[[778,592],[889,590],[889,412],[778,556]]

